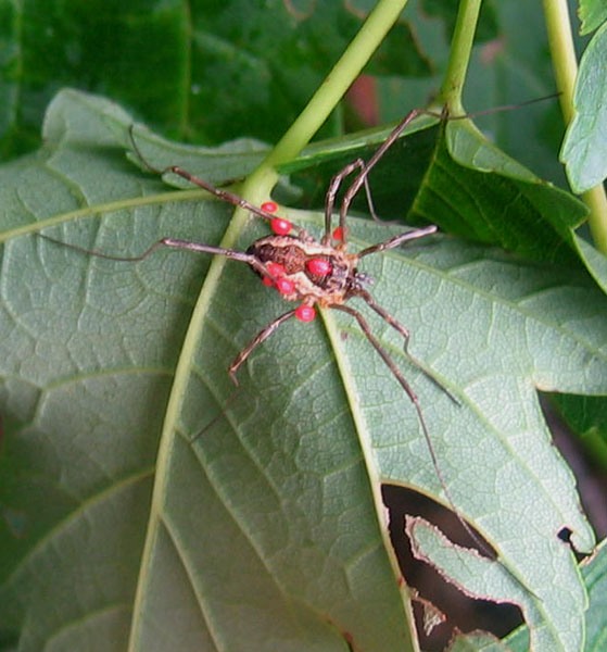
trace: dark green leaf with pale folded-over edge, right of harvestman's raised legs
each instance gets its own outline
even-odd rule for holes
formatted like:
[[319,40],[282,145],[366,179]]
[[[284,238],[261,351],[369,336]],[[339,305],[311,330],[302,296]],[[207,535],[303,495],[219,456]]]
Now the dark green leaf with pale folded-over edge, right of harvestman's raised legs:
[[446,148],[437,152],[414,214],[529,259],[572,262],[568,246],[585,217],[583,204],[509,159],[468,121],[447,124]]

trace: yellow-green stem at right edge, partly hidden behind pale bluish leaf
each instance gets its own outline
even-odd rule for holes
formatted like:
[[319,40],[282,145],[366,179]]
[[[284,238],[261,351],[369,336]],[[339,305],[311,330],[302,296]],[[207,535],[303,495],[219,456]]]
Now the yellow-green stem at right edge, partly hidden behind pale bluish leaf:
[[[573,120],[573,96],[578,76],[578,60],[571,36],[571,21],[567,0],[544,0],[544,16],[548,43],[565,124]],[[603,184],[582,195],[590,210],[589,226],[596,248],[607,253],[607,197]]]

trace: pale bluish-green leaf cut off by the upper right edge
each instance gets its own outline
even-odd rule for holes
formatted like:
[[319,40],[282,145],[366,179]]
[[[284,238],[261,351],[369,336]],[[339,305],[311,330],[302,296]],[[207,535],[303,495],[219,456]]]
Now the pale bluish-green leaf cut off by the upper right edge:
[[560,160],[574,192],[607,176],[607,23],[593,36],[576,82],[576,117],[567,129]]

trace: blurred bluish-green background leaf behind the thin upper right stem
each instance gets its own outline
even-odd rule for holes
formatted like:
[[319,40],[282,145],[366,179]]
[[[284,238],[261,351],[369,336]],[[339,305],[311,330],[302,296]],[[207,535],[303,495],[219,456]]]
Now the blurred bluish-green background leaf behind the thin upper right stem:
[[[429,16],[418,2],[409,2],[415,38],[425,52],[431,52],[434,76],[420,79],[390,76],[379,79],[381,123],[396,121],[406,111],[426,106],[435,98],[448,62],[452,32],[445,28],[456,2],[442,2],[444,11]],[[423,4],[425,7],[425,4]],[[546,43],[542,4],[524,0],[482,3],[484,15],[496,24],[494,33],[479,35],[464,88],[464,105],[488,138],[540,177],[566,185],[557,160],[564,126],[556,99],[517,108],[518,103],[546,98],[557,91],[549,48]],[[443,20],[439,20],[441,16]],[[492,112],[496,106],[513,106]],[[488,111],[484,115],[477,112]]]

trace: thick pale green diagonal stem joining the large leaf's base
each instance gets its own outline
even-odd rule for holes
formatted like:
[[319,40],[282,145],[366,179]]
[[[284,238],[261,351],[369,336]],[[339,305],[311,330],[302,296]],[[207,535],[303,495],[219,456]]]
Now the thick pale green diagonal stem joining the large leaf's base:
[[[270,151],[260,167],[249,177],[242,192],[269,191],[276,183],[275,167],[294,159],[309,142],[350,88],[372,53],[405,8],[407,0],[380,0],[371,11],[361,32],[354,37],[341,59],[314,93],[305,109]],[[246,192],[249,190],[249,192]]]

